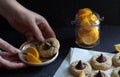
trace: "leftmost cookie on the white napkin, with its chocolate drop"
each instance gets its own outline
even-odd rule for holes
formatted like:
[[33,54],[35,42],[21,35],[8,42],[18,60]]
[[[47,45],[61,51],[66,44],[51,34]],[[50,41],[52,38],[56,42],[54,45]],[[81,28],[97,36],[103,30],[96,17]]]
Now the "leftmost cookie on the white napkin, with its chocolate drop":
[[70,65],[70,72],[78,77],[80,72],[84,71],[85,75],[88,76],[89,73],[92,71],[92,68],[88,62],[85,61],[75,61]]

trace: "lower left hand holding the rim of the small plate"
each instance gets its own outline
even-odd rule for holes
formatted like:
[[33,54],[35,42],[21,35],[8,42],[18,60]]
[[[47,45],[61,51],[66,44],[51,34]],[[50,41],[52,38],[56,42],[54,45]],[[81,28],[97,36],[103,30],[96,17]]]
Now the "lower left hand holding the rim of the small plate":
[[26,67],[26,65],[18,58],[18,52],[20,52],[20,50],[5,42],[1,38],[0,49],[4,49],[4,51],[0,50],[0,68],[18,69]]

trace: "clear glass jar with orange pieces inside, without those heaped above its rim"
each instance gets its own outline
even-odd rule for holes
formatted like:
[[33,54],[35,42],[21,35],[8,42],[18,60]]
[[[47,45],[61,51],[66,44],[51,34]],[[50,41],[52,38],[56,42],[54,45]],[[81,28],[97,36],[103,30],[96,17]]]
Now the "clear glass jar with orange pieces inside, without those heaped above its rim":
[[95,20],[94,16],[91,18],[84,18],[82,20],[76,15],[75,23],[76,27],[76,36],[75,42],[78,46],[83,48],[93,48],[99,44],[100,40],[100,22],[101,18],[99,14],[93,13],[97,19]]

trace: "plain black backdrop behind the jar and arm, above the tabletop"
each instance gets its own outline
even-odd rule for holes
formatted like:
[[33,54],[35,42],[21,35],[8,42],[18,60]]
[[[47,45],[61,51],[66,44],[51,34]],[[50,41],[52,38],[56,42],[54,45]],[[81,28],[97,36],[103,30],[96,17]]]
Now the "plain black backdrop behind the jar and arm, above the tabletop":
[[[73,27],[71,24],[74,20],[75,14],[80,8],[90,8],[93,11],[98,12],[101,17],[104,17],[102,25],[120,25],[120,0],[17,0],[26,8],[43,15],[53,30],[58,34],[56,30],[58,28]],[[18,35],[20,42],[12,41],[15,39],[14,35],[9,35],[5,31],[11,31],[14,34],[14,30],[10,27],[9,23],[2,17],[0,17],[0,37],[4,38],[14,46],[19,47],[21,42],[25,41],[22,35]],[[73,31],[74,32],[74,31]],[[62,33],[62,32],[60,32]],[[10,36],[10,40],[6,38]],[[20,37],[22,36],[22,37]],[[57,35],[57,37],[62,36]],[[17,45],[16,45],[17,42]]]

